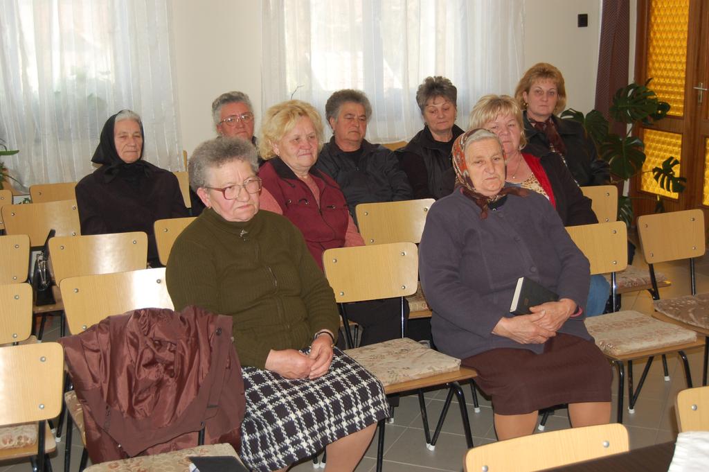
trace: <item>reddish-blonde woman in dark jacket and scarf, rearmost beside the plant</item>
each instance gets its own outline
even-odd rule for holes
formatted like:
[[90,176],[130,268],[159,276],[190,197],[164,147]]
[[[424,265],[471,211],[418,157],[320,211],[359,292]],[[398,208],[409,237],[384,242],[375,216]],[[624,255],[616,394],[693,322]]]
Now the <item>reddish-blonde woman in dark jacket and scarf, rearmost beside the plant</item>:
[[517,84],[515,99],[524,110],[527,142],[537,146],[525,148],[525,152],[542,156],[550,150],[561,155],[581,187],[610,182],[608,163],[598,158],[583,126],[554,115],[566,106],[564,76],[559,69],[546,62],[533,65]]

